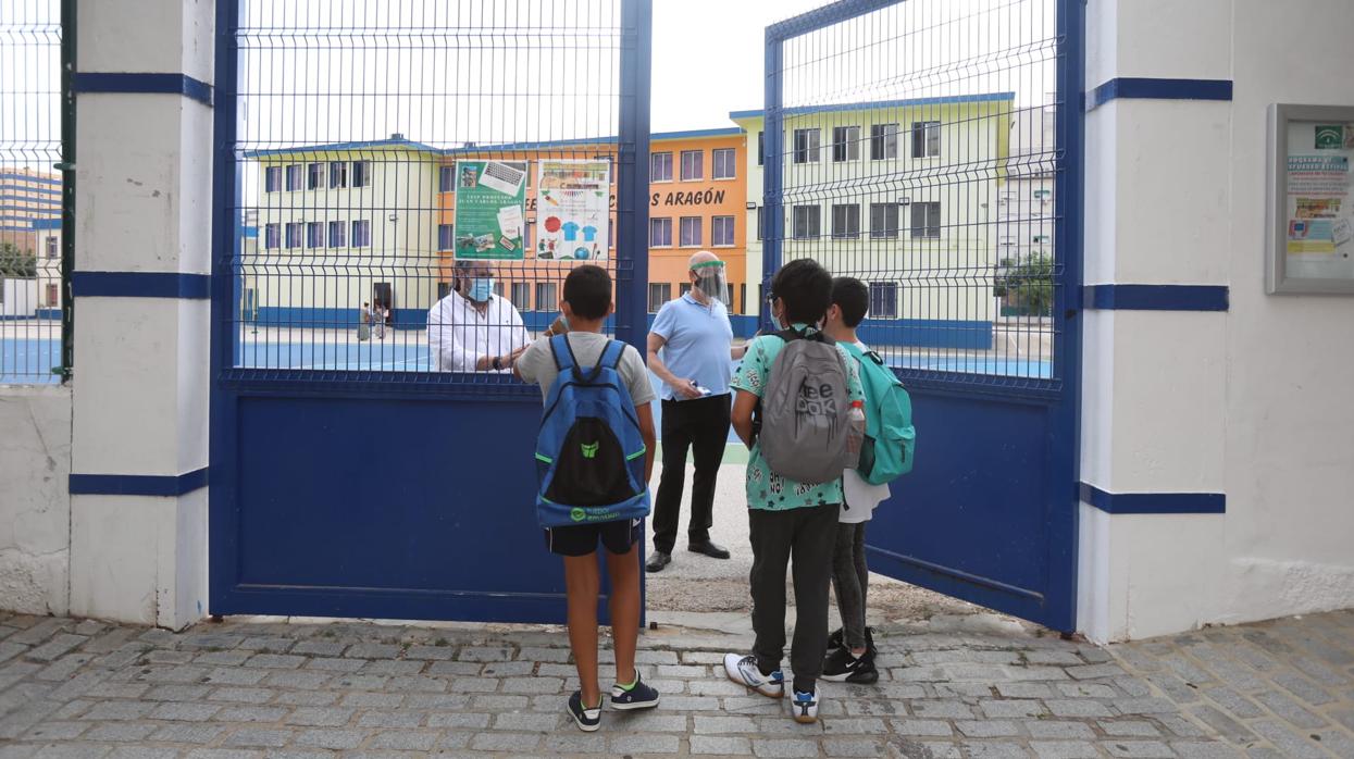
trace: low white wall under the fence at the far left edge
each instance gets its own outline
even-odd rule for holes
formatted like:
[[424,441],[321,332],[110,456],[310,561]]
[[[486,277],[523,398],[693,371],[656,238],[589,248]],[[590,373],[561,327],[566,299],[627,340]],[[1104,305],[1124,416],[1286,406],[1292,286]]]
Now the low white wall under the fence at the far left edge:
[[70,388],[0,387],[0,609],[69,612]]

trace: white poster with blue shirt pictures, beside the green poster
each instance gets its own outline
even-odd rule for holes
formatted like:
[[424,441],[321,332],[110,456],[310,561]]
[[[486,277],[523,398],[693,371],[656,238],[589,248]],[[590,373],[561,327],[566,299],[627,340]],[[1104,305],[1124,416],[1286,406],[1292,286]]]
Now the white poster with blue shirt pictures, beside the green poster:
[[539,161],[536,258],[600,261],[611,241],[611,161]]

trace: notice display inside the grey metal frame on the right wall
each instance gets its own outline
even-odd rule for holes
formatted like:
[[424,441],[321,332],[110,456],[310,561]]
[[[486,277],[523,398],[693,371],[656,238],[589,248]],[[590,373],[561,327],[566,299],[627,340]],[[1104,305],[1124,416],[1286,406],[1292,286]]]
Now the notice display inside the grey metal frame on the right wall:
[[1286,275],[1354,277],[1354,123],[1288,122]]

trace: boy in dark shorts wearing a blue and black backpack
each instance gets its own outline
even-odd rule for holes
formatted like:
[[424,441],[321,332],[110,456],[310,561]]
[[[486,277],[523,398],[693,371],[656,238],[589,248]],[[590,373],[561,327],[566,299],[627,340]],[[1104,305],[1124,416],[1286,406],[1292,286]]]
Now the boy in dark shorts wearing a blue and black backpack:
[[546,411],[536,441],[536,517],[546,545],[563,556],[569,647],[580,689],[569,714],[582,731],[601,727],[597,679],[597,543],[607,549],[616,648],[613,709],[658,705],[635,670],[639,639],[640,521],[654,468],[654,388],[639,352],[601,334],[613,310],[611,275],[581,265],[565,279],[567,331],[546,336],[517,359],[517,377],[540,384]]

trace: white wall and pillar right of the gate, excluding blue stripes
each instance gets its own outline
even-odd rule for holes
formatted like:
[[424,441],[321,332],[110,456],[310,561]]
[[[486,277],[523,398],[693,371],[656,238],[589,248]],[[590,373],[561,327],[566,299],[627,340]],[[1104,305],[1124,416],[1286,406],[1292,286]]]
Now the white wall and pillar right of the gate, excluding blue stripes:
[[1354,106],[1354,4],[1087,9],[1089,89],[1169,77],[1235,92],[1087,115],[1087,284],[1225,284],[1231,307],[1086,313],[1082,480],[1224,492],[1227,513],[1083,505],[1079,626],[1124,640],[1354,606],[1354,299],[1263,288],[1266,108]]

